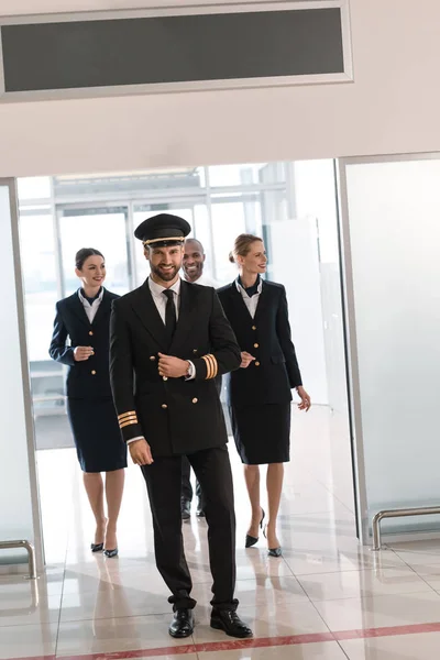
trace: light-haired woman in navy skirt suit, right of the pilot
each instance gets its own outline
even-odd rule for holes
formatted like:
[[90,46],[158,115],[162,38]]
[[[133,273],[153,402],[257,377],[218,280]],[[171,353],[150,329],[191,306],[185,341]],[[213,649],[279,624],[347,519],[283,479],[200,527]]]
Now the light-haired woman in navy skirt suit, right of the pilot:
[[224,314],[241,348],[241,367],[229,375],[228,399],[237,450],[244,463],[244,477],[252,506],[245,547],[258,540],[264,510],[260,505],[260,468],[267,464],[268,521],[264,530],[268,554],[280,557],[276,518],[283,487],[284,463],[289,461],[292,388],[300,410],[310,397],[290,339],[286,290],[283,285],[261,279],[266,272],[264,243],[252,234],[235,240],[230,261],[239,277],[219,289]]

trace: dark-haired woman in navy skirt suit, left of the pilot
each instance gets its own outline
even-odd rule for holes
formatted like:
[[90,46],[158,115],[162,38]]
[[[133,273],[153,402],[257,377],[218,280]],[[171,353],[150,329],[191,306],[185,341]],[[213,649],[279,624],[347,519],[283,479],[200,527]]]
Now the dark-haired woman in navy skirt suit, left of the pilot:
[[[69,367],[67,411],[96,519],[91,550],[103,550],[107,557],[116,557],[117,522],[127,468],[127,447],[121,438],[109,376],[111,302],[119,296],[102,286],[106,263],[98,250],[82,248],[76,254],[75,265],[81,287],[56,304],[50,355]],[[105,483],[101,472],[106,473]]]

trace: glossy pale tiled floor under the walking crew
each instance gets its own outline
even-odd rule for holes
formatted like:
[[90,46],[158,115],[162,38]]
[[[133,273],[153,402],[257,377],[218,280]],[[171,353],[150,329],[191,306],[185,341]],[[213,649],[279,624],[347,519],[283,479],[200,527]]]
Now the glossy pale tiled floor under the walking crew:
[[294,416],[293,460],[279,517],[283,559],[249,522],[233,444],[240,614],[253,640],[209,627],[206,521],[184,524],[198,601],[194,636],[167,634],[168,593],[154,564],[139,469],[128,470],[118,559],[89,551],[94,525],[73,450],[38,453],[47,571],[37,587],[0,578],[0,660],[435,660],[440,648],[440,541],[400,543],[378,557],[358,544],[344,422],[326,408]]

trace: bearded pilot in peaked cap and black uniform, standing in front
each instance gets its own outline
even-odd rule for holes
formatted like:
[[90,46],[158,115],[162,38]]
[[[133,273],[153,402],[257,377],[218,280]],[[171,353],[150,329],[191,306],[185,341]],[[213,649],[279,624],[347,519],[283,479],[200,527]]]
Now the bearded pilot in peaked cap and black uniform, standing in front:
[[182,457],[200,482],[213,578],[211,626],[252,631],[237,614],[235,517],[223,413],[215,378],[240,366],[240,349],[216,292],[180,279],[186,220],[162,213],[134,235],[151,275],[113,305],[110,381],[123,439],[141,465],[153,516],[156,565],[172,596],[173,637],[194,629],[191,578],[180,514]]

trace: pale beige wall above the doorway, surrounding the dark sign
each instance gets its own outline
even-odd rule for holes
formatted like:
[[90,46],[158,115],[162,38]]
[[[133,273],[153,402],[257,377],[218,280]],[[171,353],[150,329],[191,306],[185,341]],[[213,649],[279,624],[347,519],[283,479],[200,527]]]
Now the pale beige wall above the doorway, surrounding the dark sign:
[[[0,15],[124,6],[147,0],[3,0]],[[440,2],[351,0],[351,20],[353,84],[4,103],[0,176],[440,151]]]

